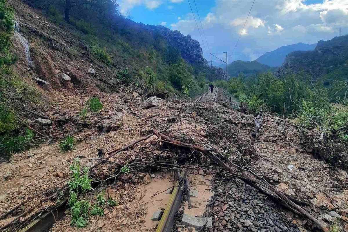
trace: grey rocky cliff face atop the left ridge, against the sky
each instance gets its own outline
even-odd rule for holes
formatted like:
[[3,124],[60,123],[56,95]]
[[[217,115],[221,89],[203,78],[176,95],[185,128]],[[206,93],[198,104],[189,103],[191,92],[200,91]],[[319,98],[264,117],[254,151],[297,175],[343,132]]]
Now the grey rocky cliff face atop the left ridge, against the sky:
[[191,39],[190,35],[183,35],[180,31],[172,31],[164,26],[152,26],[137,23],[144,30],[151,32],[152,36],[163,38],[167,45],[178,49],[181,56],[185,61],[193,65],[208,65],[207,61],[203,58],[203,51],[197,40]]

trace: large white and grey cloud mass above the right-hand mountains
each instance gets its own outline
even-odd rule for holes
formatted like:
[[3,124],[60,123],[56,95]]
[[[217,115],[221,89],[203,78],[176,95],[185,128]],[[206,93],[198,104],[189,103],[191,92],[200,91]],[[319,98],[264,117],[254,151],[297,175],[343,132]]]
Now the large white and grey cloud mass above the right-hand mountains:
[[[213,53],[230,53],[234,49],[252,2],[253,0],[216,0],[209,13],[200,15]],[[249,60],[293,43],[329,40],[338,35],[340,28],[341,34],[348,33],[348,0],[323,0],[316,4],[308,2],[255,1],[231,61]],[[203,46],[192,14],[178,19],[171,27],[183,34],[190,34]],[[245,47],[250,48],[251,52],[243,53]]]

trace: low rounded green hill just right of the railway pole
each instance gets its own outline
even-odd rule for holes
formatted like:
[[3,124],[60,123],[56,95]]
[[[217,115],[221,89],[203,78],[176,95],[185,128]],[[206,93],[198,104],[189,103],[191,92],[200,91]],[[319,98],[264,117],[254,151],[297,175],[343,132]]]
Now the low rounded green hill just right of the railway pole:
[[[244,75],[255,75],[262,72],[274,72],[277,68],[260,64],[257,61],[234,61],[228,65],[228,75],[230,77],[237,76],[239,73]],[[226,70],[226,65],[225,69]]]

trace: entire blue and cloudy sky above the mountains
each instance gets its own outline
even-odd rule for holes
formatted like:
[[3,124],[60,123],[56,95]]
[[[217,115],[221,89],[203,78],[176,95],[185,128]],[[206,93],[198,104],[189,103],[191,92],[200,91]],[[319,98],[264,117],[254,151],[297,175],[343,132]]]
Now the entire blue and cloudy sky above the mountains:
[[[341,35],[348,33],[348,0],[253,1],[117,0],[120,12],[135,22],[190,34],[198,40],[207,61],[218,60],[210,53],[226,51],[228,63],[253,61],[281,46],[330,40],[340,29]],[[226,54],[215,56],[226,59]]]

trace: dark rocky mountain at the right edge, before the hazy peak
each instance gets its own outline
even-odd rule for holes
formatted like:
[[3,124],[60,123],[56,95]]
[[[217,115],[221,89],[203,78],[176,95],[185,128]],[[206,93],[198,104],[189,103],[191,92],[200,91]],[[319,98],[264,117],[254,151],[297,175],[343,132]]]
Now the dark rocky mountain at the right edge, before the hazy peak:
[[[279,70],[306,70],[314,79],[336,71],[333,78],[347,78],[348,64],[348,35],[335,37],[331,40],[320,40],[314,51],[293,51],[284,60]],[[330,67],[332,66],[332,67]],[[339,73],[337,73],[337,71]]]

